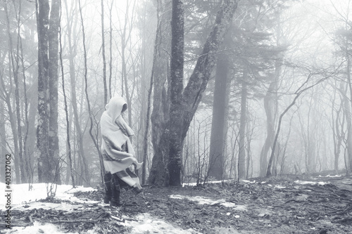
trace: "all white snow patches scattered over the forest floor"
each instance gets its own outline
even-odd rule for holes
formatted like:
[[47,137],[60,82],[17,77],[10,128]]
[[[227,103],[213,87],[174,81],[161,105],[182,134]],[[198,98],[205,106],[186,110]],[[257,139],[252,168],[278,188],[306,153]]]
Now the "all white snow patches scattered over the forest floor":
[[[322,177],[322,176],[320,176]],[[339,176],[325,176],[325,177],[339,177]],[[221,183],[222,181],[213,181],[212,183]],[[246,181],[242,180],[244,183],[256,183],[256,181]],[[325,182],[317,182],[317,181],[294,181],[294,183],[306,185],[320,185],[324,186]],[[188,186],[192,186],[193,184],[189,183]],[[92,191],[94,188],[84,188],[82,186],[78,186],[77,188],[72,188],[72,186],[61,185],[57,186],[56,188],[56,195],[57,199],[68,201],[68,202],[61,202],[61,203],[46,203],[46,202],[37,202],[37,200],[45,199],[47,197],[47,190],[50,185],[46,183],[34,183],[32,184],[32,188],[29,190],[29,186],[27,183],[25,184],[18,184],[18,185],[11,185],[11,209],[16,210],[28,210],[34,208],[43,208],[43,209],[56,209],[56,210],[63,210],[63,211],[70,211],[72,209],[80,209],[82,206],[80,204],[70,204],[70,202],[77,202],[77,203],[97,203],[96,201],[92,200],[80,200],[79,198],[75,197],[73,194],[79,191],[87,192]],[[283,186],[278,185],[270,185],[268,186],[275,186],[275,188],[285,188]],[[6,184],[0,183],[0,189],[3,191],[6,190]],[[220,200],[212,200],[206,197],[190,197],[184,195],[170,195],[172,199],[187,199],[194,202],[199,202],[199,204],[208,204],[208,205],[222,205],[224,207],[232,207],[234,210],[237,211],[246,211],[247,207],[240,204],[234,204],[233,202],[226,202],[223,199]],[[0,196],[0,210],[5,211],[6,205],[6,197]],[[237,218],[237,217],[236,217]],[[189,230],[182,230],[180,228],[175,228],[170,223],[165,223],[165,221],[158,219],[156,217],[151,216],[151,214],[139,214],[134,217],[135,221],[125,221],[125,226],[131,226],[132,234],[139,234],[139,233],[171,233],[171,234],[194,234],[197,233],[193,229]],[[34,221],[33,226],[27,226],[26,228],[23,227],[13,227],[12,230],[7,230],[5,233],[18,233],[18,234],[27,234],[27,233],[51,233],[51,234],[61,234],[58,229],[58,226],[55,226],[51,223],[39,223]],[[93,234],[93,230],[89,230],[87,234]],[[69,234],[76,234],[76,233],[69,233]]]

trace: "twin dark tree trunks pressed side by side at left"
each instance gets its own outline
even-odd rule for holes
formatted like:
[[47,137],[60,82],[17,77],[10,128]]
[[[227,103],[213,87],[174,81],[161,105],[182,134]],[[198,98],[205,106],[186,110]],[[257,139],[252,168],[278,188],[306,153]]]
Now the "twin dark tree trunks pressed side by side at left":
[[[61,183],[58,171],[58,16],[59,1],[39,0],[38,29],[38,124],[39,183]],[[49,30],[48,30],[49,27]],[[49,91],[49,96],[47,95]],[[50,98],[50,99],[49,99]],[[50,103],[49,103],[50,100]]]

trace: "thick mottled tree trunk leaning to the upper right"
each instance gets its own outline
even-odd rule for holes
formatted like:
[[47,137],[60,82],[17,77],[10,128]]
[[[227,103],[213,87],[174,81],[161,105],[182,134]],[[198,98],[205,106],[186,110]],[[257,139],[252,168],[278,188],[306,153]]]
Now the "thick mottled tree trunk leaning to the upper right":
[[[172,135],[172,139],[175,138],[175,140],[178,141],[177,143],[172,143],[172,148],[170,147],[170,158],[174,166],[172,169],[178,170],[181,168],[180,152],[182,152],[184,138],[187,135],[191,120],[201,102],[202,93],[206,89],[210,74],[215,66],[216,52],[224,40],[227,27],[229,27],[234,11],[237,8],[237,3],[237,0],[222,1],[213,30],[210,32],[206,44],[203,46],[203,52],[197,60],[196,67],[189,78],[187,86],[183,93],[180,89],[174,90],[179,92],[178,96],[182,96],[181,104],[179,103],[180,100],[175,98],[173,105],[176,111],[182,113],[180,116],[182,116],[183,121],[180,122],[177,121],[177,119],[170,121],[170,135]],[[175,112],[175,110],[170,110],[170,113]],[[177,116],[179,116],[179,114],[177,114]],[[179,136],[180,138],[178,138]],[[177,176],[177,174],[180,174],[180,171],[172,172],[173,176]],[[170,185],[180,186],[180,178],[171,178],[170,173]]]

